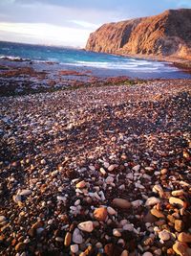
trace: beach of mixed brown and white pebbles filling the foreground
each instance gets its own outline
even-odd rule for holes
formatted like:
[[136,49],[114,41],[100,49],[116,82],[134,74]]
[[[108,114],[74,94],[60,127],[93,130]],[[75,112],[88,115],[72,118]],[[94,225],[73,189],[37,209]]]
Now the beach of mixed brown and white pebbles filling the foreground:
[[191,255],[191,80],[0,98],[0,255]]

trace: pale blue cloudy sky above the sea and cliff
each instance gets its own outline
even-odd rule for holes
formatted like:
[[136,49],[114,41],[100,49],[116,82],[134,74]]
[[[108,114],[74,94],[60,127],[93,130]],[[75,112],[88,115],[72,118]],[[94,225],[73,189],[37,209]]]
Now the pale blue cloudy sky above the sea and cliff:
[[0,0],[0,40],[85,47],[103,23],[191,8],[191,0]]

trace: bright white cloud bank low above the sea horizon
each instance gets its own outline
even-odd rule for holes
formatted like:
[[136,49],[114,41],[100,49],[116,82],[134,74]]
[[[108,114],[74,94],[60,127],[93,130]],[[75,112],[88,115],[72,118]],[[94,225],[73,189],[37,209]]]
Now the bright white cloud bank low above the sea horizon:
[[[84,47],[90,30],[59,27],[50,24],[0,22],[0,38],[16,35],[19,41],[40,42],[43,44]],[[27,41],[26,41],[27,38]],[[18,40],[17,40],[18,41]]]

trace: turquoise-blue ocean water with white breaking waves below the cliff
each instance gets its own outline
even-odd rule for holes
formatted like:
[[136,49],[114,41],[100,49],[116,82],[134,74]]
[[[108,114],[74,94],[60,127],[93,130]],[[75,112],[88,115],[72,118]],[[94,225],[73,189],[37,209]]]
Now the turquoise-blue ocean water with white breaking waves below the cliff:
[[0,61],[3,58],[22,58],[38,65],[51,61],[55,69],[91,70],[97,77],[191,79],[190,74],[164,61],[126,58],[65,47],[0,42]]

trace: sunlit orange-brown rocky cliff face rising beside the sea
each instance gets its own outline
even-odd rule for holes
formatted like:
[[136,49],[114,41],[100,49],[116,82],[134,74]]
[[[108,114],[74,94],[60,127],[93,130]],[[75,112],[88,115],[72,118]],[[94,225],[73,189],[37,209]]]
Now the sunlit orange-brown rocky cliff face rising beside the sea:
[[191,59],[191,9],[104,24],[90,35],[86,50]]

